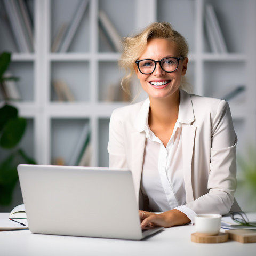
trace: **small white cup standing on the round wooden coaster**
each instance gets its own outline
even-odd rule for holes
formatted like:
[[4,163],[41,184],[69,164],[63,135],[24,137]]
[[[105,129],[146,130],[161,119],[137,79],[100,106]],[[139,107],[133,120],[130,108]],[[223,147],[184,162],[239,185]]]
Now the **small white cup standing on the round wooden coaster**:
[[221,227],[220,214],[199,214],[195,217],[196,232],[205,235],[218,235]]

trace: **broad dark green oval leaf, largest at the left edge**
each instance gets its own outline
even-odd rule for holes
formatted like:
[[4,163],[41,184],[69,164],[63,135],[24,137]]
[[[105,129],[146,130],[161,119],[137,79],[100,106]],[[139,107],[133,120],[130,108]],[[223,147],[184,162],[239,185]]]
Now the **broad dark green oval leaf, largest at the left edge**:
[[26,124],[27,121],[23,117],[12,118],[7,121],[0,138],[0,146],[7,149],[16,146],[25,132]]

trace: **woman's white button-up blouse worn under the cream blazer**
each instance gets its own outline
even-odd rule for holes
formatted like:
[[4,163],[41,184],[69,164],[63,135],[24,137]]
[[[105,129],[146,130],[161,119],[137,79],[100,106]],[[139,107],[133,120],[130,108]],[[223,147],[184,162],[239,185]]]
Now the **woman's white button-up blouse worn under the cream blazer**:
[[183,206],[186,204],[186,191],[182,166],[182,123],[178,118],[172,136],[165,147],[150,130],[148,115],[142,122],[146,143],[141,190],[149,199],[149,208],[154,212],[177,209],[194,222],[196,213]]

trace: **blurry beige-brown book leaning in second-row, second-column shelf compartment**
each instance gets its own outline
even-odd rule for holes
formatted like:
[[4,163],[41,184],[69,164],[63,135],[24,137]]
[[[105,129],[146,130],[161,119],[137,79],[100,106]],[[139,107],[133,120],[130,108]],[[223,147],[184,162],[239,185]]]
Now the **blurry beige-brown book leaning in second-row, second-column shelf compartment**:
[[75,101],[74,94],[71,92],[66,82],[62,80],[54,80],[53,87],[59,101]]

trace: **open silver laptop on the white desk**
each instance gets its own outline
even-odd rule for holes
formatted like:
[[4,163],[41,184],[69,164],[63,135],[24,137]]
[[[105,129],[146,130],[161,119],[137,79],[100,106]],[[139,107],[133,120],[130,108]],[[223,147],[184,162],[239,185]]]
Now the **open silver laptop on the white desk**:
[[18,166],[29,230],[33,233],[140,240],[132,173],[100,167]]

